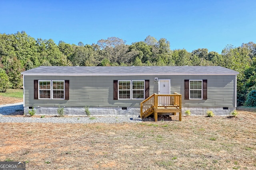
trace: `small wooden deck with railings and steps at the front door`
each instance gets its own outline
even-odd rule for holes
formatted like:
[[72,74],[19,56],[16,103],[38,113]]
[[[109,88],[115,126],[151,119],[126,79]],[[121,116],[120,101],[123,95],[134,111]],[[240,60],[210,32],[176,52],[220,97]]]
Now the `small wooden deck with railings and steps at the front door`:
[[181,94],[152,94],[140,103],[140,117],[143,119],[154,114],[154,119],[157,121],[158,115],[179,113],[179,121],[181,121],[181,104]]

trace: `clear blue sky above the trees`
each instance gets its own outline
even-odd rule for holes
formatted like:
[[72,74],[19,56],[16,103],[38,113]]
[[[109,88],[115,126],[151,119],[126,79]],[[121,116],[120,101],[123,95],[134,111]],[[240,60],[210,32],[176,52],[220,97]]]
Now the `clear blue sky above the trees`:
[[130,45],[151,35],[172,50],[221,53],[256,43],[255,9],[255,0],[0,0],[0,33],[76,45],[108,37]]

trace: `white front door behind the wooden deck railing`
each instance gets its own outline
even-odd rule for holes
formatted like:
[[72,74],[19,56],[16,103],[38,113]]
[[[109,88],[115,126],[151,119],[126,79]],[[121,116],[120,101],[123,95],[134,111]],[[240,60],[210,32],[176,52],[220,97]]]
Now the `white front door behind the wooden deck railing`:
[[[158,80],[158,94],[171,94],[171,80],[170,79],[160,79]],[[169,96],[158,96],[158,106],[170,105]]]

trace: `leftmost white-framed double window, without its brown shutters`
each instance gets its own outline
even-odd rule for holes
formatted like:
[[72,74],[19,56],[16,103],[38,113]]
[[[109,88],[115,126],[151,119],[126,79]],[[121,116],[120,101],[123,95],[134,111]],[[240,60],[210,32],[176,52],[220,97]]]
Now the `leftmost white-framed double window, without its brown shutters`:
[[64,99],[64,81],[38,80],[39,99]]

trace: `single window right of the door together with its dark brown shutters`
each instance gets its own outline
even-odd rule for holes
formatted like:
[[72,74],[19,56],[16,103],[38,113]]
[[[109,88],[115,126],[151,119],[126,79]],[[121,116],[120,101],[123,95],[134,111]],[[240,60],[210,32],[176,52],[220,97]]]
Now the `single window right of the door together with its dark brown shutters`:
[[184,99],[207,99],[207,80],[185,80]]

